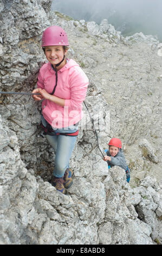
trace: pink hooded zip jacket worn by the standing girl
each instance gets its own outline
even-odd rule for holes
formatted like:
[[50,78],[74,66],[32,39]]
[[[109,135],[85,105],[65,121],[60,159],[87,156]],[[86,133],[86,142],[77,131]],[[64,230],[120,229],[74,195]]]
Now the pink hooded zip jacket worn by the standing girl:
[[[53,92],[56,75],[50,62],[44,64],[38,74],[37,87]],[[82,118],[82,102],[85,100],[88,78],[73,59],[57,72],[57,86],[54,95],[65,99],[64,107],[50,100],[43,100],[42,114],[48,123],[56,128],[69,127]]]

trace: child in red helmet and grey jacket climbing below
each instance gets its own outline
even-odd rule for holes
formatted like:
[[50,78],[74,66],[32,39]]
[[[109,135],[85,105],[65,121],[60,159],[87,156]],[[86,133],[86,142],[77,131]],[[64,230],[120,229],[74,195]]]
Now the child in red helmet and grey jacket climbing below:
[[106,149],[106,156],[104,156],[103,160],[107,161],[108,168],[113,166],[120,166],[126,172],[127,182],[130,180],[130,169],[127,166],[124,153],[121,149],[121,141],[118,138],[112,138],[108,143],[109,149]]

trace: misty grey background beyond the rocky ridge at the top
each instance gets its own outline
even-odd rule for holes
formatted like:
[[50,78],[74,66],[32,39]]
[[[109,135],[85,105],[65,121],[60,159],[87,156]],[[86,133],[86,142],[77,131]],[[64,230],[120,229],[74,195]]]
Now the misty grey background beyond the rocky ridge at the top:
[[162,0],[53,0],[51,8],[99,25],[107,19],[124,36],[142,32],[162,42]]

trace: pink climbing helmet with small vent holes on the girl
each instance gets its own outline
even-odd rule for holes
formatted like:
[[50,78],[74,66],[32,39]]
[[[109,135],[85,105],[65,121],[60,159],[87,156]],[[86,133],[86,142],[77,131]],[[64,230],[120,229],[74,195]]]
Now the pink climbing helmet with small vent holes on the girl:
[[46,28],[42,35],[42,47],[53,45],[69,45],[66,32],[59,26],[50,26]]

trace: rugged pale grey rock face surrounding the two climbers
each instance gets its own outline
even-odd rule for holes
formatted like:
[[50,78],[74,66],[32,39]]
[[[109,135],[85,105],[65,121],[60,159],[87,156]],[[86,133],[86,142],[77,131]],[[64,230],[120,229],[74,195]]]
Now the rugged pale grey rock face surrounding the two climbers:
[[142,33],[129,38],[107,20],[73,21],[50,11],[51,1],[1,1],[0,89],[31,92],[46,60],[41,35],[50,25],[69,37],[69,57],[89,77],[86,103],[100,148],[120,137],[131,166],[107,163],[83,106],[74,153],[74,184],[63,195],[51,186],[54,152],[40,134],[41,102],[0,96],[0,243],[161,243],[161,56]]

